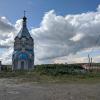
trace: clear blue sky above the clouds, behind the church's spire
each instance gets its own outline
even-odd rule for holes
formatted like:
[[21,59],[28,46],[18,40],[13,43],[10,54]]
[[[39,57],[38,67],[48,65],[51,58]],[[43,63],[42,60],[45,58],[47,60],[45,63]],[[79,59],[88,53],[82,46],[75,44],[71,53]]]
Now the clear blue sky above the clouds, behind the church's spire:
[[51,9],[64,16],[95,11],[99,3],[100,0],[0,0],[0,16],[15,23],[26,10],[29,27],[37,27],[44,13]]

